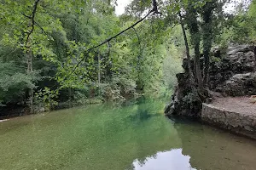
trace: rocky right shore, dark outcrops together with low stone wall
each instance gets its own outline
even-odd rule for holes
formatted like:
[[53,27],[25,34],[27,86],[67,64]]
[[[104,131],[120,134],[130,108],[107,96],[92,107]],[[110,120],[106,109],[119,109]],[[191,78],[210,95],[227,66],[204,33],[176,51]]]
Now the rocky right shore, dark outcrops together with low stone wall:
[[[170,104],[166,106],[166,115],[196,118],[210,125],[256,139],[256,107],[253,104],[253,109],[251,108],[249,113],[231,111],[230,108],[223,109],[226,102],[224,97],[256,95],[254,48],[249,45],[233,45],[226,50],[212,49],[208,81],[210,97],[205,103],[196,99],[191,93],[189,62],[183,59],[184,71],[177,74],[177,88]],[[193,60],[190,63],[191,68],[194,68]],[[212,102],[214,103],[218,98],[223,99],[222,103],[218,103],[217,106],[212,105]]]

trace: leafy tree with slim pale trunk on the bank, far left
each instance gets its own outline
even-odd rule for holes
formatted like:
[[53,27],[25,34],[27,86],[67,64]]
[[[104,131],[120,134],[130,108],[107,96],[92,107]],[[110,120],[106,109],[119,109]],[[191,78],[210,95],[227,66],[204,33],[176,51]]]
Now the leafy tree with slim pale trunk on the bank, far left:
[[[49,48],[49,33],[52,28],[61,28],[60,23],[52,22],[55,20],[49,14],[44,14],[49,7],[49,1],[41,2],[36,0],[30,1],[8,1],[3,0],[0,3],[2,8],[1,25],[9,28],[9,32],[2,32],[4,45],[13,45],[22,51],[20,59],[26,60],[26,75],[32,77],[35,75],[33,71],[33,60],[37,56],[43,56],[45,59],[53,59],[51,48]],[[43,14],[42,14],[43,13]],[[47,22],[50,23],[47,23]],[[54,26],[54,27],[52,27]],[[48,31],[48,32],[46,32]],[[31,79],[32,80],[32,79]],[[32,80],[32,83],[33,80]],[[33,88],[27,87],[30,96],[30,107],[33,112]]]

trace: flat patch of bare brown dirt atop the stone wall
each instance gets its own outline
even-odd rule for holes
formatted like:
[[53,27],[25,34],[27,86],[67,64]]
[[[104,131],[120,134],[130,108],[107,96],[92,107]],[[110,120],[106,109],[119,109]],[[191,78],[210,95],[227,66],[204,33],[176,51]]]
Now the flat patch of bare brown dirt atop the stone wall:
[[216,98],[212,105],[224,109],[225,111],[256,116],[256,103],[253,104],[252,101],[250,97]]

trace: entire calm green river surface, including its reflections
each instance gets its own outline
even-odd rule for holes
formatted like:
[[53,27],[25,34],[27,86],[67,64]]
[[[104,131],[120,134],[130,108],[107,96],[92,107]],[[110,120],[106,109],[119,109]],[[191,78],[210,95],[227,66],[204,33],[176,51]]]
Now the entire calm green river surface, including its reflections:
[[0,122],[1,170],[255,170],[256,142],[172,121],[160,100]]

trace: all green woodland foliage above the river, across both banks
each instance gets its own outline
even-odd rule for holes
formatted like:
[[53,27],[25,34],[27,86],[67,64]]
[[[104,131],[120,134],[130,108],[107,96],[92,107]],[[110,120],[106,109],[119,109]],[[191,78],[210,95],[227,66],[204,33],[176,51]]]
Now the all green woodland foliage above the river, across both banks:
[[188,49],[195,63],[204,55],[192,81],[203,88],[212,44],[255,42],[256,2],[235,14],[224,3],[133,0],[116,16],[115,0],[0,0],[0,105],[35,112],[170,95]]

